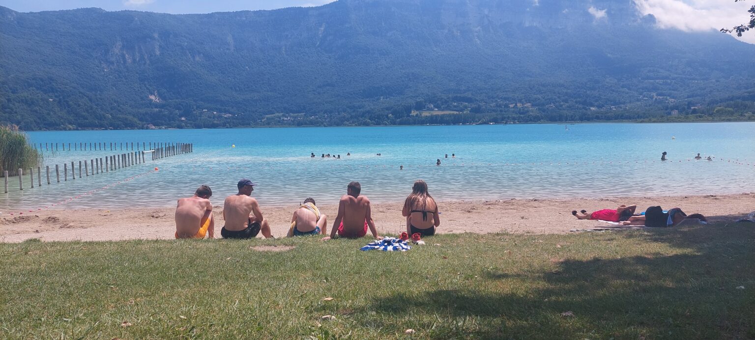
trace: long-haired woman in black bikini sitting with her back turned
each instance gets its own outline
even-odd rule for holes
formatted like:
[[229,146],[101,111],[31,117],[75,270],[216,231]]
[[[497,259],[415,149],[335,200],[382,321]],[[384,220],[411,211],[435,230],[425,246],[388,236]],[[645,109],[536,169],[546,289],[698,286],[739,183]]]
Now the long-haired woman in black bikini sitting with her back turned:
[[422,179],[414,182],[411,195],[404,201],[401,213],[406,217],[406,232],[409,235],[419,233],[430,236],[435,234],[435,228],[440,225],[438,204],[427,192],[427,183]]

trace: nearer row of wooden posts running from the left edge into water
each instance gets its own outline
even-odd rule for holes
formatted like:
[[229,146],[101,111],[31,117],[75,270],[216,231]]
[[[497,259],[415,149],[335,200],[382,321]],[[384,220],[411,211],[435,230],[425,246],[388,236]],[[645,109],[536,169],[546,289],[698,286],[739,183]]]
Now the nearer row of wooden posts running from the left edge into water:
[[[194,151],[194,145],[191,143],[173,143],[149,151],[128,152],[120,155],[112,155],[104,158],[92,158],[89,161],[79,161],[79,178],[83,176],[94,176],[99,173],[109,173],[123,167],[131,167],[146,162],[146,154],[151,154],[153,161],[160,158],[166,158],[175,155],[181,155]],[[83,166],[83,170],[82,170]],[[45,167],[45,179],[47,184],[51,184],[50,166]],[[60,166],[55,164],[54,169],[55,182],[60,183]],[[3,172],[5,176],[5,192],[8,192],[8,170]],[[18,169],[18,188],[23,190],[23,169]],[[68,181],[68,163],[63,164],[63,182]],[[71,162],[71,180],[76,179],[75,162]],[[29,167],[29,188],[34,188],[34,168]],[[42,167],[37,167],[37,186],[42,186]]]

